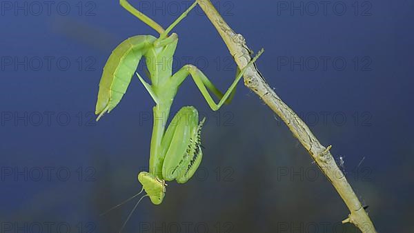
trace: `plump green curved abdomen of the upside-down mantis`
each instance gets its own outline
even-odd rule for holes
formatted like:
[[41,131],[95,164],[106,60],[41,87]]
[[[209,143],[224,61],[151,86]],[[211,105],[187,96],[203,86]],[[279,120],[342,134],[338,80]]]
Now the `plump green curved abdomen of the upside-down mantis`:
[[99,82],[98,100],[95,114],[99,120],[105,112],[110,112],[124,96],[126,89],[137,70],[139,60],[152,45],[155,37],[150,35],[130,37],[112,51]]

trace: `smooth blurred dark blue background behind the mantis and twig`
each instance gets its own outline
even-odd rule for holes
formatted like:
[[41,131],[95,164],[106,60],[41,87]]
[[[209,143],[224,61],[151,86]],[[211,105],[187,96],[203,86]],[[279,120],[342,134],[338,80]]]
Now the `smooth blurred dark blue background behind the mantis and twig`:
[[[191,1],[131,1],[167,27]],[[346,173],[378,232],[414,232],[413,1],[213,1],[257,66]],[[101,71],[124,39],[156,32],[118,1],[1,1],[1,232],[118,232],[148,168],[152,105],[133,78],[95,122]],[[197,65],[221,89],[235,64],[197,6],[173,72]],[[138,72],[144,74],[144,63]],[[213,112],[192,79],[172,106],[207,121],[204,159],[159,206],[141,202],[124,232],[359,232],[286,125],[239,83]],[[411,107],[410,107],[411,106]]]

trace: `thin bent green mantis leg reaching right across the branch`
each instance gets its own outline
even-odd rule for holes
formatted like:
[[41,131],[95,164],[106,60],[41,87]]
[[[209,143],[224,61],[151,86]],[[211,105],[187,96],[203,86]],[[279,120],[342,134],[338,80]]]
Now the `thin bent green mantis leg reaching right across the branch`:
[[[211,83],[211,81],[206,77],[206,75],[201,72],[197,67],[194,65],[184,65],[183,68],[181,68],[179,71],[177,71],[174,75],[171,77],[171,82],[178,82],[181,84],[188,75],[193,77],[193,80],[195,84],[197,85],[197,88],[199,88],[201,94],[203,95],[204,99],[206,99],[208,105],[210,108],[214,111],[219,110],[221,108],[221,105],[226,103],[228,101],[229,97],[234,93],[237,83],[239,83],[240,79],[242,79],[244,72],[246,72],[246,69],[249,65],[254,63],[260,55],[264,52],[264,50],[260,50],[257,55],[250,60],[250,62],[246,65],[245,68],[237,72],[237,77],[235,78],[235,81],[230,85],[230,88],[227,89],[227,91],[224,94],[221,94],[221,92]],[[219,103],[215,103],[213,97],[211,97],[210,92],[213,92],[217,98],[219,98]],[[230,98],[231,99],[231,98]]]

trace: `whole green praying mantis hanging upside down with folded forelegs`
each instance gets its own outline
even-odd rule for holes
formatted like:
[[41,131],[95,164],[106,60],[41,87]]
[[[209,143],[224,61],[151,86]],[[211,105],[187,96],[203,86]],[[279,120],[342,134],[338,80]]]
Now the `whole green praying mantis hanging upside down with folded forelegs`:
[[[162,62],[172,61],[172,56],[177,48],[177,34],[169,35],[170,31],[186,17],[190,10],[197,6],[197,1],[166,30],[131,6],[127,0],[120,0],[119,3],[128,12],[156,30],[159,37],[156,38],[152,35],[130,37],[112,51],[103,68],[95,114],[99,115],[98,121],[103,114],[110,112],[117,106],[126,93],[139,61],[144,56],[150,83],[147,83],[138,73],[136,74],[155,101],[155,107],[153,108],[154,123],[150,143],[149,171],[140,172],[138,180],[142,185],[141,192],[145,190],[145,196],[149,196],[152,203],[159,205],[165,196],[166,181],[175,180],[177,183],[186,183],[195,174],[203,156],[201,151],[201,127],[205,119],[199,121],[197,109],[193,106],[181,108],[166,129],[170,107],[181,83],[189,75],[193,77],[197,88],[199,88],[210,108],[218,110],[221,105],[233,99],[236,85],[242,79],[246,68],[256,61],[263,50],[260,50],[245,68],[238,71],[230,88],[222,94],[206,75],[194,65],[184,65],[183,68],[172,74],[172,63]],[[214,101],[208,91],[219,99],[218,103]],[[132,198],[135,196],[132,196]],[[145,196],[139,199],[132,212]]]

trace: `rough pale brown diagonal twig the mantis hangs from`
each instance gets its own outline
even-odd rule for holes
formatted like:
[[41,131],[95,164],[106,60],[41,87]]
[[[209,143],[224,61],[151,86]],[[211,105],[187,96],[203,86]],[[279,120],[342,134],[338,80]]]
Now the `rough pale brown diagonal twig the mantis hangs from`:
[[[251,58],[250,50],[242,34],[236,34],[228,26],[209,0],[197,0],[197,2],[206,13],[208,19],[213,23],[217,32],[219,32],[224,43],[226,43],[230,54],[232,54],[239,68],[244,68]],[[329,151],[331,145],[326,148],[319,143],[306,123],[270,88],[255,65],[250,65],[250,68],[244,73],[244,84],[247,88],[253,90],[288,125],[293,135],[302,143],[309,154],[311,154],[319,169],[331,181],[333,187],[337,190],[339,196],[341,196],[351,212],[348,218],[342,221],[342,223],[353,223],[363,233],[375,233],[376,230],[371,219],[359,202],[355,192],[353,192],[346,177],[339,170],[335,159],[333,159]]]

